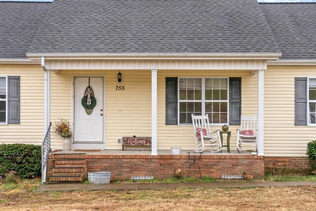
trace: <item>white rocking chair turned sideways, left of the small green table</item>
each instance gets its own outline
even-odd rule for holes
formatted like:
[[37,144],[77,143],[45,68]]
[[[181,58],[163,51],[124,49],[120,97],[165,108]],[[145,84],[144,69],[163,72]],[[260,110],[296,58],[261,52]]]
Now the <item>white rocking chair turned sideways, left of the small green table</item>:
[[[209,152],[221,152],[223,150],[222,142],[219,131],[211,132],[209,127],[208,115],[195,116],[191,114],[194,135],[196,138],[197,149],[196,152],[203,152],[204,150]],[[209,147],[206,149],[205,147]],[[215,149],[214,149],[215,147]]]

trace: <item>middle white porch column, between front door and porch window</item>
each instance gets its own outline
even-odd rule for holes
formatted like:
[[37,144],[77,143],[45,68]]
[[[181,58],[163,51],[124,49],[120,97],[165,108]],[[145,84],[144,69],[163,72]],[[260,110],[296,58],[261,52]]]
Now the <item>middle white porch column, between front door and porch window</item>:
[[152,155],[157,154],[157,70],[152,70]]

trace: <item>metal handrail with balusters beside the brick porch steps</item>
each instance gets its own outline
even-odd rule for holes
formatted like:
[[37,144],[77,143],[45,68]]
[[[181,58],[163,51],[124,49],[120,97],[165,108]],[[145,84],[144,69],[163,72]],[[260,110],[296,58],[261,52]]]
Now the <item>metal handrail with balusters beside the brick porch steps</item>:
[[49,123],[45,138],[41,144],[41,185],[46,182],[47,160],[50,154],[50,127],[51,122]]

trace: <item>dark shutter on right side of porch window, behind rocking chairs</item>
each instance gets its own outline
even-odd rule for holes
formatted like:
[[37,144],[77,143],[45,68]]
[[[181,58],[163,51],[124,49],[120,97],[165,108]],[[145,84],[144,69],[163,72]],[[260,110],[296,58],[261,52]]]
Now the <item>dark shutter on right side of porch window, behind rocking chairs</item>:
[[240,125],[241,77],[229,78],[229,124]]

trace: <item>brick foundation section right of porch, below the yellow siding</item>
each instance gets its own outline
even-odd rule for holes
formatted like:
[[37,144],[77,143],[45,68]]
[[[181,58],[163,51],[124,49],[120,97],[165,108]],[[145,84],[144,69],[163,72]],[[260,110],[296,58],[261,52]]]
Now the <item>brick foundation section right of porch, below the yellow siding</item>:
[[307,157],[265,157],[265,172],[275,174],[302,173],[312,170]]

